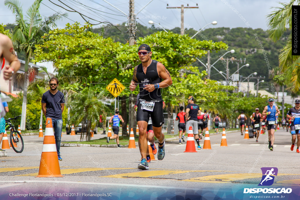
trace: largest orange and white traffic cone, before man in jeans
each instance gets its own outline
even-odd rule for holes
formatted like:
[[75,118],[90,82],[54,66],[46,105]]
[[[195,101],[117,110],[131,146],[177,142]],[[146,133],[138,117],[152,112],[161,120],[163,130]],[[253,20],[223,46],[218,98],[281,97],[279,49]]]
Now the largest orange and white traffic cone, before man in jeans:
[[36,177],[64,177],[60,173],[51,118],[46,119],[40,169]]

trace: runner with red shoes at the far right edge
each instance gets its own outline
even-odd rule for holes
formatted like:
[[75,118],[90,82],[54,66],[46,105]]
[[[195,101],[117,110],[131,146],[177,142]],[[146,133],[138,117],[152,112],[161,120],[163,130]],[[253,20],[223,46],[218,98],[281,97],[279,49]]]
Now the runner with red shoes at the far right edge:
[[291,119],[291,134],[292,134],[292,146],[291,151],[294,150],[295,141],[296,141],[296,134],[297,134],[297,153],[300,153],[299,146],[300,146],[300,100],[295,100],[295,107],[290,108],[289,112],[286,114],[288,119]]

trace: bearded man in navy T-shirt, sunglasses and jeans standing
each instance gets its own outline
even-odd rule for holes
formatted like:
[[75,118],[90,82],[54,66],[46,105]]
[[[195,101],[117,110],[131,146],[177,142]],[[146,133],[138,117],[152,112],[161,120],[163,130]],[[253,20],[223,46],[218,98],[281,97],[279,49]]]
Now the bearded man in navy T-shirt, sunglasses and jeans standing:
[[62,160],[60,156],[60,141],[62,130],[62,112],[64,111],[64,94],[57,90],[58,79],[52,77],[49,81],[50,90],[46,91],[42,97],[42,110],[46,118],[52,119],[52,127],[54,129],[55,145],[58,160]]

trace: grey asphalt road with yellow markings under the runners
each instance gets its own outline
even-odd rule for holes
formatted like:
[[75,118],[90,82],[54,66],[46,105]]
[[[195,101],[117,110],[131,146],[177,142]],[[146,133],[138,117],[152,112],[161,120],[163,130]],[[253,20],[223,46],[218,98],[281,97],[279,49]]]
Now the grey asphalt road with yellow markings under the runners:
[[[221,136],[210,135],[212,149],[195,153],[184,153],[186,143],[168,141],[164,160],[157,160],[155,155],[156,160],[145,171],[137,169],[141,158],[138,147],[61,147],[63,160],[59,165],[64,177],[57,178],[35,177],[43,138],[23,136],[25,148],[21,154],[10,148],[7,157],[0,157],[0,199],[38,199],[36,195],[48,195],[52,199],[171,199],[174,196],[251,199],[251,194],[244,194],[243,190],[258,187],[262,167],[278,168],[274,184],[268,187],[292,188],[290,196],[281,199],[298,199],[300,154],[296,153],[296,147],[290,150],[290,133],[275,132],[274,151],[268,149],[267,134],[261,134],[256,142],[253,138],[244,139],[239,132],[228,133],[227,147],[220,147]],[[72,141],[75,137],[78,136],[63,135],[62,141]],[[94,138],[99,137],[103,135]],[[204,138],[201,146],[203,142]],[[24,195],[27,196],[23,198]]]

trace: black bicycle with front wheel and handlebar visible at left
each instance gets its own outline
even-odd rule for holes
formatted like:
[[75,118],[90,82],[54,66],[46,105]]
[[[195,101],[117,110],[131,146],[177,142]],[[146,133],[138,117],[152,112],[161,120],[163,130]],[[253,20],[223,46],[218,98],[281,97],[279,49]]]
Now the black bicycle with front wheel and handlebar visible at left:
[[13,150],[16,151],[16,153],[22,153],[22,151],[24,150],[24,141],[21,134],[16,130],[15,126],[10,120],[14,120],[20,116],[21,115],[5,119],[5,130],[7,128],[8,130],[10,130],[10,144]]

